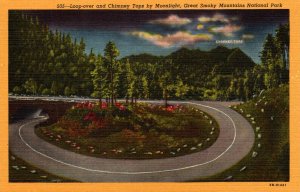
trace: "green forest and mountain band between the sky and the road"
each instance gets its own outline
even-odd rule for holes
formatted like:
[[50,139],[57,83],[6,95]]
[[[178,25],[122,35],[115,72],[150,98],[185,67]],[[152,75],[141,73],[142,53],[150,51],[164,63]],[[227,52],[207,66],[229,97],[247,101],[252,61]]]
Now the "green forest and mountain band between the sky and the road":
[[[258,48],[257,51],[260,49]],[[103,53],[84,39],[52,31],[18,11],[9,14],[9,92],[126,99],[249,100],[289,82],[289,25],[265,37],[260,63],[240,48],[182,47],[167,56],[120,58],[113,41]]]

